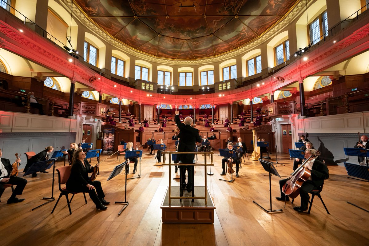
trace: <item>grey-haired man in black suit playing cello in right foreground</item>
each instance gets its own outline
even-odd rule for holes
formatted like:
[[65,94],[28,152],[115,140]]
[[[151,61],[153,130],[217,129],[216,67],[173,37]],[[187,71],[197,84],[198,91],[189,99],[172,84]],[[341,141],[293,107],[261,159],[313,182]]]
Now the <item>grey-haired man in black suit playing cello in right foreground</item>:
[[[315,155],[315,153],[315,149],[305,150],[305,159],[309,159],[310,156]],[[324,183],[324,180],[328,179],[329,177],[327,165],[317,160],[316,157],[311,158],[303,167],[311,171],[311,176],[302,184],[300,188],[301,205],[300,207],[293,208],[297,212],[303,212],[307,210],[310,199],[309,192],[318,189]],[[280,197],[276,197],[276,199],[279,201],[290,200],[290,198],[284,195],[282,192],[282,188],[286,184],[287,180],[288,179],[279,180]]]

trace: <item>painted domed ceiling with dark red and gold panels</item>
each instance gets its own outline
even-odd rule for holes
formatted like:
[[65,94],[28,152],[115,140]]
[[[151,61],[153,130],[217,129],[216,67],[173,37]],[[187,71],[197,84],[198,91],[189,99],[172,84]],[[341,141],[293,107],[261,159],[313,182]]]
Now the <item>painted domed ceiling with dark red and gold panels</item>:
[[221,55],[260,37],[299,0],[75,0],[112,37],[158,58]]

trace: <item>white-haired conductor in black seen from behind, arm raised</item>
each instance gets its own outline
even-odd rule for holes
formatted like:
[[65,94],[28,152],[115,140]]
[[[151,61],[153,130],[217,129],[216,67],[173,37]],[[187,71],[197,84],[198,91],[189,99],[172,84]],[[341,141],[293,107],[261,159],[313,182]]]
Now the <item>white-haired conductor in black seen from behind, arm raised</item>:
[[[193,152],[196,147],[196,142],[201,142],[201,136],[199,135],[199,130],[193,128],[191,125],[193,124],[193,119],[191,117],[186,117],[181,123],[179,119],[179,111],[175,111],[175,120],[177,127],[180,131],[179,133],[179,143],[178,143],[178,151],[179,152]],[[195,155],[194,154],[182,154],[178,155],[177,160],[182,163],[193,163]],[[180,168],[187,169],[187,181],[189,184],[193,184],[193,169],[194,166],[180,166]],[[185,170],[184,170],[185,171]],[[187,189],[191,189],[191,185],[187,185]],[[189,191],[189,190],[188,190]]]

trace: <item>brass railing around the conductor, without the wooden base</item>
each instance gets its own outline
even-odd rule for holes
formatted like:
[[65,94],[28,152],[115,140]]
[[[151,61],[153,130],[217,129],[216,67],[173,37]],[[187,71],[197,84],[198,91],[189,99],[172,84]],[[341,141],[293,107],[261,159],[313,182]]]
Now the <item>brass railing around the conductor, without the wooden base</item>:
[[[163,151],[163,166],[169,166],[169,206],[171,203],[171,199],[203,199],[205,200],[205,205],[207,206],[207,186],[206,186],[206,167],[207,166],[214,166],[213,163],[213,151],[210,152],[177,152],[177,151]],[[169,154],[169,163],[166,164],[165,163],[165,154]],[[195,154],[195,155],[204,155],[204,163],[172,163],[172,154]],[[209,155],[209,158],[207,158],[207,155]],[[209,160],[209,163],[207,163],[207,160]],[[204,183],[205,183],[205,188],[204,188],[204,196],[203,197],[172,197],[172,166],[204,166],[204,170],[205,170],[205,175],[204,175]],[[193,188],[195,188],[195,178],[193,177]]]

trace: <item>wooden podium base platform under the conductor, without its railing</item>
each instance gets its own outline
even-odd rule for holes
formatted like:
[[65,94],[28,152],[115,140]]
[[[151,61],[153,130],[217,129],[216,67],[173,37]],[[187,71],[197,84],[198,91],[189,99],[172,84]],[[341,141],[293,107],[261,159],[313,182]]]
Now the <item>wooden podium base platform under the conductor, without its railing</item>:
[[[172,196],[179,196],[179,186],[172,186]],[[172,199],[169,206],[169,187],[166,190],[162,209],[163,223],[214,223],[214,202],[207,191],[207,206],[205,200]],[[184,197],[190,197],[192,193],[184,192]],[[195,195],[204,194],[203,186],[195,186]]]

